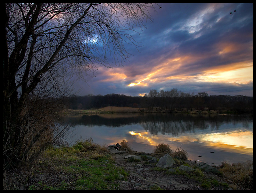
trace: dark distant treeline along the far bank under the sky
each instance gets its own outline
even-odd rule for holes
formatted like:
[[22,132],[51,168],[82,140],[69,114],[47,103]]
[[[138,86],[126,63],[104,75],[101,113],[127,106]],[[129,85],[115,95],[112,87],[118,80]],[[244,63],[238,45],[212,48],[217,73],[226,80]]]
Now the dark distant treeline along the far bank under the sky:
[[233,113],[253,113],[253,97],[243,95],[210,95],[201,92],[183,93],[174,88],[157,92],[151,89],[144,97],[121,94],[87,95],[63,98],[69,109],[95,109],[107,106],[139,107],[145,111],[230,111]]

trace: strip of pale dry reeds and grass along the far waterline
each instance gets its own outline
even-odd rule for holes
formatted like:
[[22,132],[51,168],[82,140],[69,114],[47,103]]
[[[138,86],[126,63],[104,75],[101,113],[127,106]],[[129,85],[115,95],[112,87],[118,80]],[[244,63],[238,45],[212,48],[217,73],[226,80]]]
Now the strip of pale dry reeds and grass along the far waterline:
[[[149,110],[148,108],[139,108],[139,107],[103,107],[98,109],[64,109],[61,111],[62,114],[100,114],[100,113],[170,113],[168,111],[158,111],[157,109]],[[199,110],[183,110],[178,111],[174,110],[172,113],[187,113],[187,114],[236,114],[234,111],[228,109],[222,110],[208,110],[205,108],[202,111]]]

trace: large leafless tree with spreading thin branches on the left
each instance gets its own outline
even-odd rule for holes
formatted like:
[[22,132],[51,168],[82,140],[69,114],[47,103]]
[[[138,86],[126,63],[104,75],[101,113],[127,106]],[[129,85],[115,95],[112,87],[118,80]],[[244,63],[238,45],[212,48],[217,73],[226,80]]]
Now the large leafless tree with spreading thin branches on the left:
[[150,3],[3,4],[4,163],[24,160],[30,144],[54,129],[47,120],[56,105],[50,104],[65,93],[68,74],[109,66],[109,56],[116,64],[129,58],[125,44],[138,46],[132,34],[150,19],[151,8]]

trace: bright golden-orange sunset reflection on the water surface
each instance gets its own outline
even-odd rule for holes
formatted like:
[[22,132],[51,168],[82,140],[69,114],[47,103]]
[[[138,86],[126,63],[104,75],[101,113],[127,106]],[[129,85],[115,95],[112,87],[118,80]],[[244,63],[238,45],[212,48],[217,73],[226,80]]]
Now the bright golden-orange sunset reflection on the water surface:
[[[139,138],[140,143],[155,146],[160,143],[175,143],[190,144],[191,142],[199,142],[201,146],[216,148],[222,151],[232,151],[235,153],[253,153],[253,132],[250,131],[236,131],[226,133],[211,133],[198,134],[187,133],[179,137],[172,137],[170,135],[155,135],[148,136],[148,132],[129,132],[130,135]],[[175,147],[173,147],[175,148]]]

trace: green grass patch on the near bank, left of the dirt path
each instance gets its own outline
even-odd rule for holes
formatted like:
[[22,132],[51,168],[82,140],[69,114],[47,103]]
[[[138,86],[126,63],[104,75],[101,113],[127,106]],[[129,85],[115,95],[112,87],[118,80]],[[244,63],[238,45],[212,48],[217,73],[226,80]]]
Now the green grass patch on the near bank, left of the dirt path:
[[[29,190],[113,190],[118,189],[120,174],[122,180],[128,174],[122,167],[116,167],[111,155],[91,139],[78,141],[73,147],[50,147],[41,159],[34,176],[43,176],[48,168],[61,173],[66,179],[59,182],[35,181]],[[71,188],[72,187],[72,188]]]

